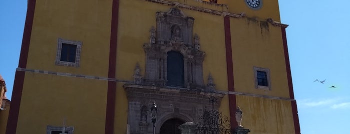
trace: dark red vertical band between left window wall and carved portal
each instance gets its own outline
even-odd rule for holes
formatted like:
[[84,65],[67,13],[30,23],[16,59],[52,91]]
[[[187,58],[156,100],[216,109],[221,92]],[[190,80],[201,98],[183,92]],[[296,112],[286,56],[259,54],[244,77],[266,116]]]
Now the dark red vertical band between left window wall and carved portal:
[[[118,36],[118,14],[119,0],[113,0],[112,3],[112,20],[111,20],[111,40],[109,48],[109,66],[108,77],[116,77],[116,59],[117,59],[117,36]],[[106,124],[105,133],[114,133],[114,117],[116,103],[116,87],[117,82],[108,81],[107,104],[106,104]]]

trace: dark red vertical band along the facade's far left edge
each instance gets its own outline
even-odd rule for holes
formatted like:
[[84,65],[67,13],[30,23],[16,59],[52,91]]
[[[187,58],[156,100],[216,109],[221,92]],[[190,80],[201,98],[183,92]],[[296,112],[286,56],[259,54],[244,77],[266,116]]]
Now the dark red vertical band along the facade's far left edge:
[[[21,68],[27,67],[29,44],[31,42],[36,2],[37,2],[36,0],[28,0],[26,22],[25,22],[23,38],[22,38],[21,54],[20,54],[20,60],[18,63],[18,67],[21,67]],[[20,113],[20,105],[21,105],[21,99],[22,99],[22,90],[23,90],[24,80],[25,80],[25,72],[16,70],[14,88],[13,88],[12,97],[11,97],[12,98],[11,108],[9,111],[8,124],[6,127],[6,133],[8,134],[16,133],[17,131],[17,122],[18,122],[18,116]]]

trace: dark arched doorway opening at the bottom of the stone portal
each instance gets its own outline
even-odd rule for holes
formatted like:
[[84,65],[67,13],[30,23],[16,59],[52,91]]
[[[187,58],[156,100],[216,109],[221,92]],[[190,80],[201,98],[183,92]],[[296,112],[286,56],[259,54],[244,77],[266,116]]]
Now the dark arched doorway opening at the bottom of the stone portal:
[[168,119],[160,127],[159,134],[181,134],[181,130],[178,127],[183,123],[185,121],[178,118]]

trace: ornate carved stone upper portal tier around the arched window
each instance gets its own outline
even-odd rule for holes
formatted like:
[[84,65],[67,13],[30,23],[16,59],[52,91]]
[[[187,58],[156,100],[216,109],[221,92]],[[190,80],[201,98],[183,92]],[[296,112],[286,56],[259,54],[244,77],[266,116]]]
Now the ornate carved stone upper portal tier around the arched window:
[[[180,87],[204,90],[203,65],[205,52],[200,51],[199,36],[193,38],[194,18],[185,16],[177,9],[171,8],[168,12],[156,13],[156,36],[154,28],[150,31],[150,43],[143,45],[146,53],[146,70],[143,85],[172,86],[169,85],[168,52],[175,51],[181,54]],[[152,42],[156,38],[156,42]],[[194,41],[194,42],[192,42]],[[183,56],[183,57],[182,57]],[[177,71],[175,73],[178,73]]]

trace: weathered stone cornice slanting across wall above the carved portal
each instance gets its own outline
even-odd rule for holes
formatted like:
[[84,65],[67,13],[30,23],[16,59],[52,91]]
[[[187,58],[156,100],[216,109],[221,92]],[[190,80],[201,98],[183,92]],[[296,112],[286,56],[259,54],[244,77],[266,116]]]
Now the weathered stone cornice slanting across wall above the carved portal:
[[[214,9],[204,8],[204,7],[193,6],[193,5],[189,5],[189,4],[183,4],[183,3],[180,3],[177,1],[169,1],[169,0],[145,0],[145,1],[176,6],[178,8],[185,8],[185,9],[189,9],[189,10],[195,10],[195,11],[210,13],[210,14],[214,14],[214,15],[224,15],[224,16],[227,15],[227,16],[231,16],[231,17],[235,17],[235,18],[241,18],[241,17],[245,16],[244,12],[236,14],[236,13],[218,11],[218,10],[214,10]],[[213,4],[216,6],[225,6],[227,8],[226,4],[218,4],[218,3],[207,2],[207,1],[201,1],[201,2],[207,3],[207,4]]]

